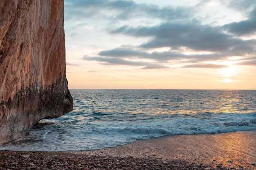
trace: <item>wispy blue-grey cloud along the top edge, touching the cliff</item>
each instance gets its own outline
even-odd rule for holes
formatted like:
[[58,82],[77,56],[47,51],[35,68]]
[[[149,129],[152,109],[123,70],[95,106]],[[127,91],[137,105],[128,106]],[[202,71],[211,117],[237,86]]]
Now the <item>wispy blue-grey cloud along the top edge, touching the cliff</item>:
[[65,0],[65,19],[99,17],[109,20],[129,20],[151,17],[161,20],[180,20],[191,16],[188,7],[162,7],[154,4],[137,4],[131,0]]

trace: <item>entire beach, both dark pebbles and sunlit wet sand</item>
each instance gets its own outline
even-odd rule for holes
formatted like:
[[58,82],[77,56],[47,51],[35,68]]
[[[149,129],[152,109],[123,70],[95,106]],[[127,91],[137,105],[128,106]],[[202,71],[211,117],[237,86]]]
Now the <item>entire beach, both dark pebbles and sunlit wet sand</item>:
[[171,135],[138,140],[114,148],[79,152],[0,151],[0,157],[0,169],[255,170],[256,131]]

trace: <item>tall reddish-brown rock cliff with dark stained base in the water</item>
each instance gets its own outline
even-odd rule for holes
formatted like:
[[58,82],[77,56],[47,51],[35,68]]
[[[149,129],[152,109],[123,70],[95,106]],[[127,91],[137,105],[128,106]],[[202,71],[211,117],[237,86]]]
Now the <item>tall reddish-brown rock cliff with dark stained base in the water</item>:
[[0,142],[72,111],[63,0],[0,0]]

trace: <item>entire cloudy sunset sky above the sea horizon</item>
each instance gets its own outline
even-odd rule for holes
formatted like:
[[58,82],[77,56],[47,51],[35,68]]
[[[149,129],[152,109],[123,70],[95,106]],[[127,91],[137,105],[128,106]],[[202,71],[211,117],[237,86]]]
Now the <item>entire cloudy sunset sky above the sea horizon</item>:
[[65,0],[70,89],[256,89],[255,0]]

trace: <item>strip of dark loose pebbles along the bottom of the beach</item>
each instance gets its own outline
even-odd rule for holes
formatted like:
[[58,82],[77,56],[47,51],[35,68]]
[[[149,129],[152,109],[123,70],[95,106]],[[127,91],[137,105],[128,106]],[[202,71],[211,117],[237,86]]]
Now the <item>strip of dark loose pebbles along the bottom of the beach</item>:
[[157,158],[111,157],[85,155],[72,152],[16,152],[0,151],[0,170],[67,170],[67,169],[123,169],[123,170],[156,170],[156,169],[227,169],[211,166],[196,161],[163,160]]

